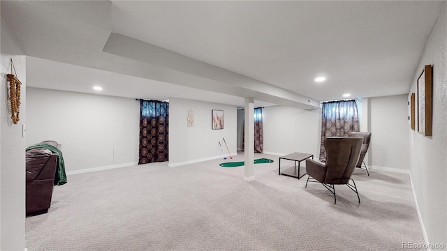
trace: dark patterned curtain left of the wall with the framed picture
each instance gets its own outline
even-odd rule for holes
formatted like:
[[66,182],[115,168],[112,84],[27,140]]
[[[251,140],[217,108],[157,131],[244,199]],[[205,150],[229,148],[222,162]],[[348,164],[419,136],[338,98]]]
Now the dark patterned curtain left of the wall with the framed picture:
[[138,165],[168,161],[169,103],[140,100]]

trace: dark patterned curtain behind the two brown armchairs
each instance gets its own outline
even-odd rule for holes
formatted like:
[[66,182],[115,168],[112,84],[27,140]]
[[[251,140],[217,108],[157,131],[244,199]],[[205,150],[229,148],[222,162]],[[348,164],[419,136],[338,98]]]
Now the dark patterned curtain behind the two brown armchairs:
[[324,102],[321,111],[320,161],[325,162],[324,140],[327,137],[346,137],[348,132],[358,132],[356,100]]

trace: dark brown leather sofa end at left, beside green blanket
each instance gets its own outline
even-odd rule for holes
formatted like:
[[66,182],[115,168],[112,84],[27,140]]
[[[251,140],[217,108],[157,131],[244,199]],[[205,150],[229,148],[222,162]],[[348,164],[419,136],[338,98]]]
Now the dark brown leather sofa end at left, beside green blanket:
[[48,149],[26,152],[27,215],[47,213],[50,208],[58,155]]

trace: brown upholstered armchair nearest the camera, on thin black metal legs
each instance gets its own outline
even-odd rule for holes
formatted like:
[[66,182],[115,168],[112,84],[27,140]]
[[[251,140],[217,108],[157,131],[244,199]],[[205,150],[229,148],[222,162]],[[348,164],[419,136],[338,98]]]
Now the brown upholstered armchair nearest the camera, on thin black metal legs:
[[[356,182],[351,178],[351,175],[360,157],[362,142],[362,137],[328,137],[325,139],[326,162],[306,160],[306,170],[309,177],[307,177],[305,187],[307,188],[309,181],[321,183],[332,192],[335,199],[334,204],[336,204],[335,185],[347,185],[356,192],[358,203],[360,203]],[[353,185],[349,181],[352,181]]]

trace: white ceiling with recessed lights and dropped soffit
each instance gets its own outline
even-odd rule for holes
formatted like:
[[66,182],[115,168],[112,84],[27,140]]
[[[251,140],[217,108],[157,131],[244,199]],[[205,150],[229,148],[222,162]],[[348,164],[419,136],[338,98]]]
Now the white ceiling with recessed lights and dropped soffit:
[[[1,1],[1,17],[32,56],[28,86],[92,92],[94,82],[86,81],[99,75],[107,76],[102,79],[106,95],[179,96],[233,105],[252,96],[283,105],[309,99],[315,106],[314,101],[341,99],[343,93],[351,98],[408,93],[442,4]],[[131,40],[115,40],[115,49],[105,50],[113,42],[110,33],[152,47],[136,51],[143,59],[123,54]],[[161,56],[145,54],[155,50]],[[57,70],[57,79],[49,79],[46,68]],[[320,75],[327,80],[316,84]]]

